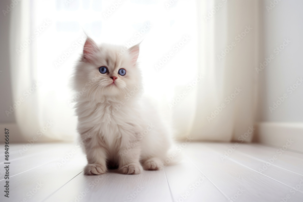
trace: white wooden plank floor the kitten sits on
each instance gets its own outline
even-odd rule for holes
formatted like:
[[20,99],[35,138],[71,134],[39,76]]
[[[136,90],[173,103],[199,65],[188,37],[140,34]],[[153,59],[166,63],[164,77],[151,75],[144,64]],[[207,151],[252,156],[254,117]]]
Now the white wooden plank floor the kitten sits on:
[[[303,154],[258,144],[228,150],[233,145],[192,142],[180,164],[161,171],[85,176],[85,156],[75,144],[35,143],[22,155],[23,144],[10,144],[9,198],[0,145],[0,201],[303,201]],[[232,151],[226,159],[225,151]]]

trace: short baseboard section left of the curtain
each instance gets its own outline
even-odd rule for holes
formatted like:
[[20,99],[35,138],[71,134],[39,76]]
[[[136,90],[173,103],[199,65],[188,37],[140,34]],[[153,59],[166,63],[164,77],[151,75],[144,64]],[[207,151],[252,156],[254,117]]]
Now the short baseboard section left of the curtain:
[[10,143],[21,143],[24,142],[24,138],[22,137],[21,131],[16,123],[5,123],[0,124],[0,143],[4,143],[4,134],[5,134],[5,128],[8,129],[9,134],[9,142]]

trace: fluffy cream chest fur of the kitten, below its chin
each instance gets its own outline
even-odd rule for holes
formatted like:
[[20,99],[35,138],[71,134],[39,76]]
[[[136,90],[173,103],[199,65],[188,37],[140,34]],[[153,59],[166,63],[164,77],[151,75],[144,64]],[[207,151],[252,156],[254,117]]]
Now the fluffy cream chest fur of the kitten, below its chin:
[[88,102],[82,105],[77,111],[78,129],[91,130],[109,150],[128,145],[140,131],[138,109],[132,103],[105,100],[94,107]]

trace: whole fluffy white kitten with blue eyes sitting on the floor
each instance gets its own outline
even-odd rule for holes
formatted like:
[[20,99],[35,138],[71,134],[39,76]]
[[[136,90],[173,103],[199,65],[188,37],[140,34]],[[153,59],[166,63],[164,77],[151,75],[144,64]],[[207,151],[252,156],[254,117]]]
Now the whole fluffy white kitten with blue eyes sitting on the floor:
[[139,45],[122,46],[87,38],[73,77],[83,92],[75,104],[77,130],[84,142],[87,175],[116,168],[122,174],[159,170],[171,147],[168,127],[148,100],[141,99],[142,77],[137,66]]

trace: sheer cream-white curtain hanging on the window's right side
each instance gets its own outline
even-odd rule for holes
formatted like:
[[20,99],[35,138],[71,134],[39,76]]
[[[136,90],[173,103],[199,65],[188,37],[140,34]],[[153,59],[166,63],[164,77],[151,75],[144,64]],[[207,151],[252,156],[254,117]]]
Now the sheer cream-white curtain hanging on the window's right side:
[[253,0],[198,1],[198,69],[204,79],[197,84],[188,127],[197,140],[251,141],[257,104],[258,6]]

